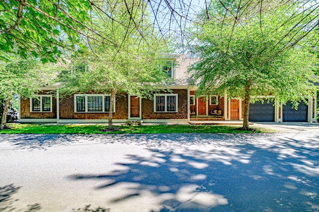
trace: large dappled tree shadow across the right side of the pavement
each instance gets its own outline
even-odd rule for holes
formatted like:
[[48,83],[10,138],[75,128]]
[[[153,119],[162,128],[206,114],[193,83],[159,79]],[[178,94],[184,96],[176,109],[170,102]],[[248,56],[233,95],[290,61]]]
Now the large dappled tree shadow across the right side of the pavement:
[[[106,137],[103,137],[106,139]],[[285,135],[119,135],[147,155],[126,155],[121,170],[76,174],[99,182],[109,204],[141,211],[319,211],[319,137]],[[276,139],[275,139],[276,138]],[[262,141],[262,142],[261,142]],[[146,204],[147,205],[147,204]],[[136,206],[138,207],[138,206]]]

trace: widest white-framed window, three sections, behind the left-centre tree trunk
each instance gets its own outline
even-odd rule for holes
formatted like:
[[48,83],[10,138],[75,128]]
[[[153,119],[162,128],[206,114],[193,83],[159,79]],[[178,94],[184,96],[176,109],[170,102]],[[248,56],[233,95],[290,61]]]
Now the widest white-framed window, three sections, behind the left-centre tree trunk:
[[[75,113],[108,113],[111,97],[106,94],[74,94]],[[115,101],[113,104],[115,113]]]

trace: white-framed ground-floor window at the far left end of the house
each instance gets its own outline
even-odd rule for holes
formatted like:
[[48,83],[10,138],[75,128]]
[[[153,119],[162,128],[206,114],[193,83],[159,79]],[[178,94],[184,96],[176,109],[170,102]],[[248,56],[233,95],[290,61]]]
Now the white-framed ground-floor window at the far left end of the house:
[[41,94],[30,98],[30,112],[52,112],[52,95]]

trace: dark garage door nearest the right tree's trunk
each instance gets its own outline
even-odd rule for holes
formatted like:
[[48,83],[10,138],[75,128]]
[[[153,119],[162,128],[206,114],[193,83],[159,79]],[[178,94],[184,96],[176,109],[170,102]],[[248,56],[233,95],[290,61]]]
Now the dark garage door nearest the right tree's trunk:
[[274,102],[267,103],[255,102],[249,105],[249,121],[250,122],[274,122],[275,107]]

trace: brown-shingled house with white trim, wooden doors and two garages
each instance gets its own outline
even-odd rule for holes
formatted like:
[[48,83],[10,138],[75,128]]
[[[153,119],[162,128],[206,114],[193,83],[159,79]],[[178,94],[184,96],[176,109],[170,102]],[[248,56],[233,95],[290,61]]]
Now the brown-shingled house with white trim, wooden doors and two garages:
[[[154,98],[141,99],[134,94],[116,97],[114,123],[142,120],[144,123],[188,123],[191,119],[243,120],[244,101],[224,96],[195,98],[196,87],[188,85],[186,71],[196,59],[186,55],[170,55],[170,66],[165,72],[176,79],[168,86],[172,93],[155,93]],[[110,96],[97,93],[77,93],[60,99],[52,95],[56,86],[42,87],[38,98],[19,99],[19,122],[54,123],[108,123]],[[317,99],[308,105],[301,103],[298,110],[292,105],[276,105],[274,102],[250,104],[251,122],[316,122]]]

